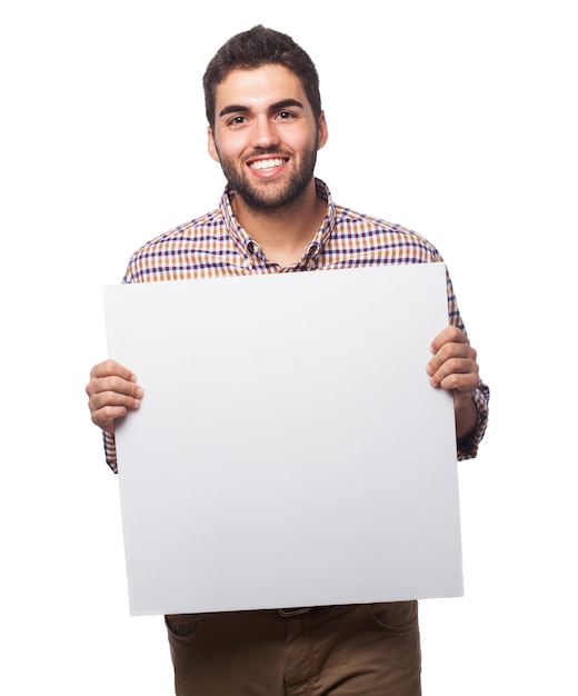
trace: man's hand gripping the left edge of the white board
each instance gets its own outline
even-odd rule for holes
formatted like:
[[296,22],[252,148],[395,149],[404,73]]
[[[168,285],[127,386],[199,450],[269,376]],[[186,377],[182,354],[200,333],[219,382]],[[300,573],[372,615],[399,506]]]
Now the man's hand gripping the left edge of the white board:
[[92,422],[112,435],[117,418],[139,408],[142,388],[129,369],[116,360],[104,360],[90,370],[87,394]]

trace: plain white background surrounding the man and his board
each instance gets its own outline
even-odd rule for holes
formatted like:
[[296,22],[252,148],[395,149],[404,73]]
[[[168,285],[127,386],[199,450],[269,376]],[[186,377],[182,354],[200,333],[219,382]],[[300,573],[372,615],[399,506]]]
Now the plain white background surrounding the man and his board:
[[441,250],[492,389],[459,466],[466,596],[421,604],[425,694],[576,688],[572,6],[3,3],[0,693],[171,693],[162,619],[129,617],[83,389],[102,286],[218,202],[200,80],[257,22],[317,62],[335,199]]

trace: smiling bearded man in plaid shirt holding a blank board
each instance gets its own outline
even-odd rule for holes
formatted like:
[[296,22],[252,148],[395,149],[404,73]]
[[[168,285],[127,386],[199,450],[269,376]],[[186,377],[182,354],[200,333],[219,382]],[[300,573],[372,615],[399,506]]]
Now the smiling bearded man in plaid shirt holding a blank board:
[[[441,261],[423,238],[333,203],[315,178],[328,139],[317,70],[286,34],[261,26],[232,37],[203,77],[210,156],[227,188],[220,206],[144,245],[124,281],[299,272]],[[448,277],[449,325],[425,372],[454,395],[458,458],[477,454],[489,391]],[[425,379],[428,377],[425,375]],[[117,470],[114,421],[143,389],[106,360],[87,386],[92,420]],[[180,696],[416,696],[416,601],[167,616]]]

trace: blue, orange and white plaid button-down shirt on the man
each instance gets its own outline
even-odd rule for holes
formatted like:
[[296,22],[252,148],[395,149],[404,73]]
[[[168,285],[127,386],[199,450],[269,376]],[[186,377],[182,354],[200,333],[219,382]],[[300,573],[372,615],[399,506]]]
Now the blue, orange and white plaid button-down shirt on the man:
[[[317,195],[327,200],[327,213],[297,264],[282,268],[266,259],[262,249],[236,219],[230,202],[233,192],[226,189],[217,210],[152,239],[136,251],[123,282],[442,262],[438,250],[416,232],[337,206],[321,180],[316,179],[316,186]],[[447,288],[449,322],[465,330],[449,275]],[[480,384],[474,398],[478,425],[467,439],[458,441],[458,459],[476,456],[486,430],[487,386]],[[107,461],[116,471],[114,438],[107,434],[104,449]]]

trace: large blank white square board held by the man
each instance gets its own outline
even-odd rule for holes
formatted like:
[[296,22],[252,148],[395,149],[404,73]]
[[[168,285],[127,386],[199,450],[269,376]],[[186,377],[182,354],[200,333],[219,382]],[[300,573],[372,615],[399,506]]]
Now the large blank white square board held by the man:
[[442,264],[107,286],[131,615],[462,594]]

